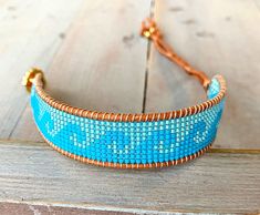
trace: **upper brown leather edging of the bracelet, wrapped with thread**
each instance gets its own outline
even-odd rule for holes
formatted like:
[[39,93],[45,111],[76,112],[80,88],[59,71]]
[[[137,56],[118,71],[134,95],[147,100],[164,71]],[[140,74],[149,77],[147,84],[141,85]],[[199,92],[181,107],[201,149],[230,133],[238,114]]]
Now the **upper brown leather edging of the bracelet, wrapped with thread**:
[[97,112],[97,111],[90,111],[85,109],[74,108],[63,102],[60,102],[52,96],[50,96],[43,89],[43,75],[37,74],[34,79],[35,91],[39,96],[45,101],[52,108],[66,112],[69,114],[73,114],[80,117],[87,117],[92,120],[98,121],[111,121],[111,122],[152,122],[152,121],[159,121],[159,120],[170,120],[177,117],[185,117],[187,115],[193,115],[196,113],[200,113],[211,106],[220,103],[220,101],[225,98],[226,94],[226,81],[222,75],[218,74],[215,78],[219,81],[220,91],[219,93],[212,98],[211,100],[207,100],[200,104],[184,108],[177,111],[170,112],[163,112],[163,113],[107,113],[107,112]]

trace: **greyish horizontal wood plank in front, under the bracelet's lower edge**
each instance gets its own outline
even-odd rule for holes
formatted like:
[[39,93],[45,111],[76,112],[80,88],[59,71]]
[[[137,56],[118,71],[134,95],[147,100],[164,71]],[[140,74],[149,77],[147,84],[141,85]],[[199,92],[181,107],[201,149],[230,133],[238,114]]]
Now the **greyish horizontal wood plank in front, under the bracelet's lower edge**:
[[81,164],[43,143],[2,142],[0,153],[0,201],[164,212],[259,212],[260,154],[208,153],[176,167],[118,171]]

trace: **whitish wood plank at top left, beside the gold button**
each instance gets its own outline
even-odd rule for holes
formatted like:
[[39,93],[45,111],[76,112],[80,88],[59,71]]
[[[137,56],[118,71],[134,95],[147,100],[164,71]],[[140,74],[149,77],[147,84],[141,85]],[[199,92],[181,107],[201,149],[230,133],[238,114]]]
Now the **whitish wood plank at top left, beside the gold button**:
[[6,0],[0,3],[0,137],[8,139],[28,103],[21,78],[46,69],[82,0]]

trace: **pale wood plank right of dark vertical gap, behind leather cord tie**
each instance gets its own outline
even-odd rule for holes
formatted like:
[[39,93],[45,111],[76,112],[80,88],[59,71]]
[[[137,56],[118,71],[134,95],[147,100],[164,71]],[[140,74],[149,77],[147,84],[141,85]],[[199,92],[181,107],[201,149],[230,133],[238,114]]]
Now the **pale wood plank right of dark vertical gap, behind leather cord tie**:
[[[176,52],[209,76],[228,81],[215,147],[260,149],[260,11],[257,1],[156,1],[155,19]],[[152,47],[146,111],[168,111],[205,99],[196,80]]]

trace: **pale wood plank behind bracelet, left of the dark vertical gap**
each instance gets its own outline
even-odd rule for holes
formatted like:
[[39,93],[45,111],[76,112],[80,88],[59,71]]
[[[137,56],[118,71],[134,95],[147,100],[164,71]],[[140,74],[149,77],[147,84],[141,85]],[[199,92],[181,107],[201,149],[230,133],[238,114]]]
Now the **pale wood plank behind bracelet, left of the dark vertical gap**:
[[[147,41],[139,28],[149,9],[150,1],[85,1],[46,72],[48,91],[90,110],[142,112]],[[27,108],[12,139],[41,141],[31,122]]]

